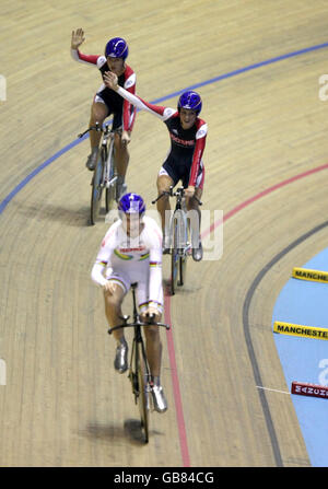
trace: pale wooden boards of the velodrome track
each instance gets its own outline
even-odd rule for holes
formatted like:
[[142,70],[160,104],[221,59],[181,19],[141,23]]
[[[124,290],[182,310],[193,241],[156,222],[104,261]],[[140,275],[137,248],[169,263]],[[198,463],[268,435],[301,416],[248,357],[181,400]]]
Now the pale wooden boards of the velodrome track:
[[[203,209],[223,210],[224,248],[220,260],[190,260],[186,287],[166,300],[169,409],[151,415],[148,445],[90,278],[107,224],[87,225],[89,141],[57,153],[87,127],[99,85],[70,57],[72,30],[84,28],[89,54],[125,37],[137,92],[154,101],[324,44],[327,15],[324,0],[2,0],[1,466],[311,465],[271,316],[291,268],[327,246],[327,226],[304,237],[327,220],[327,171],[293,179],[328,163],[327,48],[198,88]],[[127,181],[149,207],[168,143],[161,121],[137,115]]]

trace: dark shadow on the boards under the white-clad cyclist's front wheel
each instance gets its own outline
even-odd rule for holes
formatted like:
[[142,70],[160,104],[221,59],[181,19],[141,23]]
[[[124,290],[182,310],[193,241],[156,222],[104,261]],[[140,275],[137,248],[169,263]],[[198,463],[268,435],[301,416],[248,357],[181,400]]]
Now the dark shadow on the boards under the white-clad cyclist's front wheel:
[[[163,434],[156,430],[150,430],[150,435]],[[96,440],[115,442],[128,440],[134,445],[144,445],[144,434],[139,419],[126,419],[121,424],[90,423],[86,427],[86,435]]]

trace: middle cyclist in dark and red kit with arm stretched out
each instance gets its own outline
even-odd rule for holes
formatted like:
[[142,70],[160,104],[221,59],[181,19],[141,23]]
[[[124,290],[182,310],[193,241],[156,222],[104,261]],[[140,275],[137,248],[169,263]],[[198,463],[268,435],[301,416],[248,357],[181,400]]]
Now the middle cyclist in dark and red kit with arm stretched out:
[[[139,96],[129,93],[118,84],[117,77],[113,72],[104,74],[104,82],[107,88],[138,108],[148,110],[164,121],[171,137],[171,151],[157,176],[159,195],[169,190],[171,186],[175,186],[178,181],[181,181],[186,189],[187,208],[188,210],[195,209],[198,212],[200,224],[198,200],[201,198],[204,181],[202,154],[206,147],[208,126],[204,120],[198,117],[202,106],[199,94],[194,91],[183,93],[178,100],[177,109],[175,109],[150,104]],[[164,234],[163,253],[167,253],[168,246],[167,241],[165,243],[165,238],[167,238],[168,233],[165,233],[165,211],[169,210],[168,197],[161,198],[157,201],[157,209],[162,218]],[[199,261],[202,259],[200,235],[197,236],[196,241],[198,241],[198,246],[192,244],[192,258]],[[195,236],[192,243],[195,243]]]

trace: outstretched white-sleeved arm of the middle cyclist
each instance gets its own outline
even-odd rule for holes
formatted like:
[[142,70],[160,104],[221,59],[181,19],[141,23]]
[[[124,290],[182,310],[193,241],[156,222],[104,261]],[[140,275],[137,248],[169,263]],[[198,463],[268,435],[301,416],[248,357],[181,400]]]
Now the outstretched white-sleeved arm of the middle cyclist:
[[153,114],[154,116],[159,117],[162,120],[168,119],[176,112],[174,108],[162,107],[160,105],[150,104],[140,98],[140,96],[134,95],[128,92],[127,90],[122,89],[121,86],[119,86],[117,82],[117,75],[112,71],[105,72],[104,83],[108,89],[112,89],[115,92],[117,92],[120,96],[122,96],[126,101],[129,101],[140,110],[150,112],[151,114]]

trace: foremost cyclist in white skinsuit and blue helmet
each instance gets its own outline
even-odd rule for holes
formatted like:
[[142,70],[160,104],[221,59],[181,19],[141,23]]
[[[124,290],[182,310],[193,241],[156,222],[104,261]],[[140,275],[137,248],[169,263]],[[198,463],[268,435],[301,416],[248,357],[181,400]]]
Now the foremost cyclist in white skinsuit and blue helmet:
[[[121,219],[107,231],[95,264],[92,280],[104,290],[105,312],[109,327],[121,323],[121,304],[131,283],[138,282],[137,301],[142,321],[153,316],[161,321],[163,312],[162,231],[157,223],[143,217],[145,206],[137,194],[126,194],[118,203]],[[113,331],[117,341],[115,369],[128,369],[128,344],[124,330]],[[154,408],[167,409],[160,381],[162,342],[159,326],[144,328],[147,357],[151,371]]]

